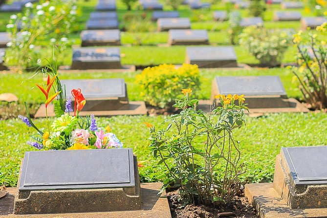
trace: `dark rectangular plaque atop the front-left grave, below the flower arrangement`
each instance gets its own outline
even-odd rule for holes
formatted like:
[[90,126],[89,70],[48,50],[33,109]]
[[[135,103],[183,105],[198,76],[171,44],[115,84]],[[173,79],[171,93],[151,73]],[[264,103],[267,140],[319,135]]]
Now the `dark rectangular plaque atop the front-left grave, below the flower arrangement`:
[[19,190],[135,185],[132,149],[26,152]]

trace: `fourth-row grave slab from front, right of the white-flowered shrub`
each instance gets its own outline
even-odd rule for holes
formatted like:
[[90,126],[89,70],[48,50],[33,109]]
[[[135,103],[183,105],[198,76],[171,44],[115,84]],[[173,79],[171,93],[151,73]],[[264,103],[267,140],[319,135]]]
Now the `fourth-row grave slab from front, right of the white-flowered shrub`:
[[82,47],[120,45],[120,31],[110,30],[83,30],[81,32]]

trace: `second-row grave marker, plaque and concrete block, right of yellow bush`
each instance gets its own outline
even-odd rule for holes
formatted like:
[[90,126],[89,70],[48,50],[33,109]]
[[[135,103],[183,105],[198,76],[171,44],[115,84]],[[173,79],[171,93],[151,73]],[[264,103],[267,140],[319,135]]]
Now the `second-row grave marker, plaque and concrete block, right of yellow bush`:
[[290,108],[279,76],[217,76],[212,84],[211,100],[218,94],[244,94],[250,109]]

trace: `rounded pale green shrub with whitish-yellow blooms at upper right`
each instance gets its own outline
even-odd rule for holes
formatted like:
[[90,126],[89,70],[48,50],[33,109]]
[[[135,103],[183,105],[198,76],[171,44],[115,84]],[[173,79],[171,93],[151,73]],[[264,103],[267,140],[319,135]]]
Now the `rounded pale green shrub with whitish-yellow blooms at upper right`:
[[243,29],[239,37],[240,45],[265,66],[280,65],[283,54],[291,44],[291,37],[279,29],[249,26]]

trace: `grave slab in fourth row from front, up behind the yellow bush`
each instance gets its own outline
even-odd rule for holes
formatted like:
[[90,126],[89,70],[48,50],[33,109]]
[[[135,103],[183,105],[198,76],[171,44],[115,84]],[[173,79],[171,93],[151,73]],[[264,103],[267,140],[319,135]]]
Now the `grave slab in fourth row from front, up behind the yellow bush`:
[[168,44],[209,44],[209,37],[207,30],[171,29],[168,32]]

